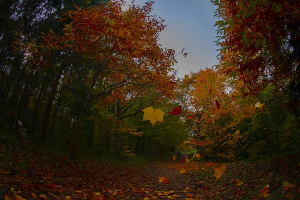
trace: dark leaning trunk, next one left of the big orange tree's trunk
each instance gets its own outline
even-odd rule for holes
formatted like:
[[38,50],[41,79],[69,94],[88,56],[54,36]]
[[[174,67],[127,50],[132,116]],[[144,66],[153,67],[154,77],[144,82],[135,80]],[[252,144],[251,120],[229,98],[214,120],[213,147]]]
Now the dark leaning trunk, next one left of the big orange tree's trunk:
[[47,138],[47,129],[48,129],[48,125],[49,125],[49,118],[50,118],[50,114],[51,114],[51,108],[52,108],[52,105],[53,105],[55,92],[56,92],[58,82],[59,82],[59,79],[60,79],[60,76],[62,74],[63,69],[64,69],[64,65],[60,66],[59,71],[56,75],[56,79],[55,79],[55,81],[52,85],[52,90],[51,90],[49,98],[48,98],[46,113],[45,113],[45,116],[44,116],[42,132],[41,132],[41,140],[42,141],[46,141],[46,138]]

